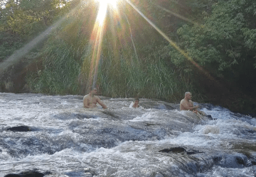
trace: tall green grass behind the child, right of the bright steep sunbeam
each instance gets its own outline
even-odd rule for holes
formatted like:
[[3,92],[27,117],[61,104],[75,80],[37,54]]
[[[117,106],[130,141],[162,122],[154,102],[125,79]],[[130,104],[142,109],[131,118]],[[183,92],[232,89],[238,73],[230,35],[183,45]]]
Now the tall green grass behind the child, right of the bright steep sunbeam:
[[160,58],[145,58],[141,62],[135,55],[132,59],[123,55],[114,59],[109,55],[99,67],[98,84],[105,96],[178,101],[186,91],[197,93],[186,77],[168,68]]

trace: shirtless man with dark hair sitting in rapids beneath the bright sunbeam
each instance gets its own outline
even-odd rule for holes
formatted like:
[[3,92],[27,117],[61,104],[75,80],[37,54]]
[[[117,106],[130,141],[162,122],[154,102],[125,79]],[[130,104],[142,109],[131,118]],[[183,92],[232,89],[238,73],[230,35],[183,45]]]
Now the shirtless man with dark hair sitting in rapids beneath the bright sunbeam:
[[90,89],[90,93],[84,96],[83,103],[85,108],[95,108],[96,104],[99,103],[102,108],[107,109],[107,105],[105,105],[98,96],[95,94],[97,93],[97,89],[93,88]]

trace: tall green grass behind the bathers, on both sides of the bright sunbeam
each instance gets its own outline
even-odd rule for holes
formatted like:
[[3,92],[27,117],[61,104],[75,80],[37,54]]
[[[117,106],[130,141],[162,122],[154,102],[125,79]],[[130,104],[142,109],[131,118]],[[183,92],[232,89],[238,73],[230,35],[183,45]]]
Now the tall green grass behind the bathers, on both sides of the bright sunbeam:
[[[65,41],[54,42],[45,50],[42,72],[28,79],[31,89],[37,93],[85,94],[89,85],[91,51],[89,45],[68,45]],[[86,45],[85,45],[86,46]],[[159,98],[179,101],[186,91],[198,95],[188,77],[171,69],[161,57],[146,57],[141,61],[132,48],[114,57],[108,51],[102,54],[97,72],[97,86],[104,96]]]

